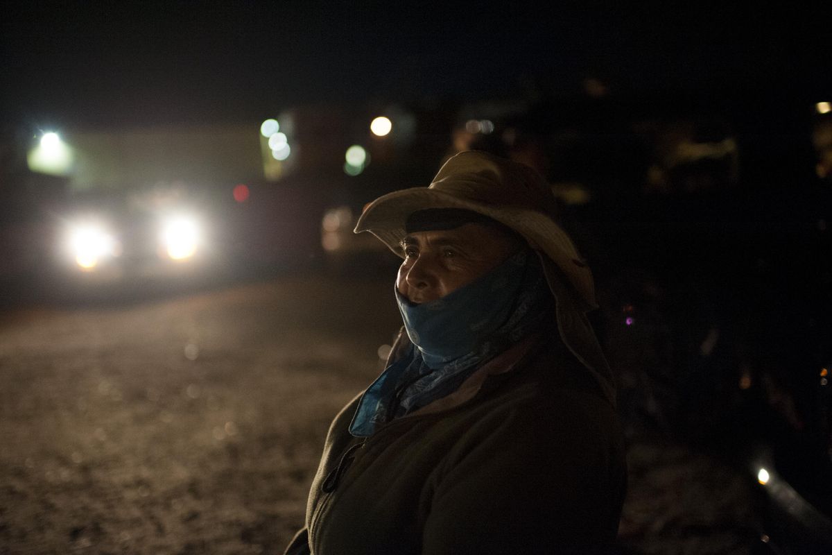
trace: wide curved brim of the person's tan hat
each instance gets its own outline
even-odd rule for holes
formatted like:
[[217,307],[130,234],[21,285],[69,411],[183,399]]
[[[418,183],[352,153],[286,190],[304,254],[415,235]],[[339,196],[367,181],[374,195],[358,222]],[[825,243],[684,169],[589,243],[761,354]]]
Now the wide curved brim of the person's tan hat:
[[460,199],[444,191],[414,187],[394,191],[371,202],[359,217],[354,232],[369,231],[396,255],[404,257],[400,242],[406,235],[405,222],[410,214],[428,208],[462,208],[508,225],[522,235],[532,249],[541,251],[557,264],[589,306],[597,307],[592,271],[581,259],[566,231],[539,211],[521,206],[490,206]]

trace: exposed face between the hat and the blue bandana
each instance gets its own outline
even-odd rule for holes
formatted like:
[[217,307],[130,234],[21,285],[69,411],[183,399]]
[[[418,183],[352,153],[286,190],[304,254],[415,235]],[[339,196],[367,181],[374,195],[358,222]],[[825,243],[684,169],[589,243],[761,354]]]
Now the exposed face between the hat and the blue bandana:
[[411,233],[402,240],[402,248],[405,258],[396,288],[418,305],[468,285],[517,252],[520,244],[493,227],[465,224]]

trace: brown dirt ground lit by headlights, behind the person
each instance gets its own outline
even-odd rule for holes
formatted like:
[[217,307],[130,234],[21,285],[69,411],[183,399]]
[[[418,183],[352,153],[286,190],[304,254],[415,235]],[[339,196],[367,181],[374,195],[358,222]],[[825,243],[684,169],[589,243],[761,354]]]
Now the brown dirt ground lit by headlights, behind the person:
[[[0,318],[0,553],[282,553],[390,280],[285,278]],[[745,479],[633,439],[622,553],[750,553]]]

